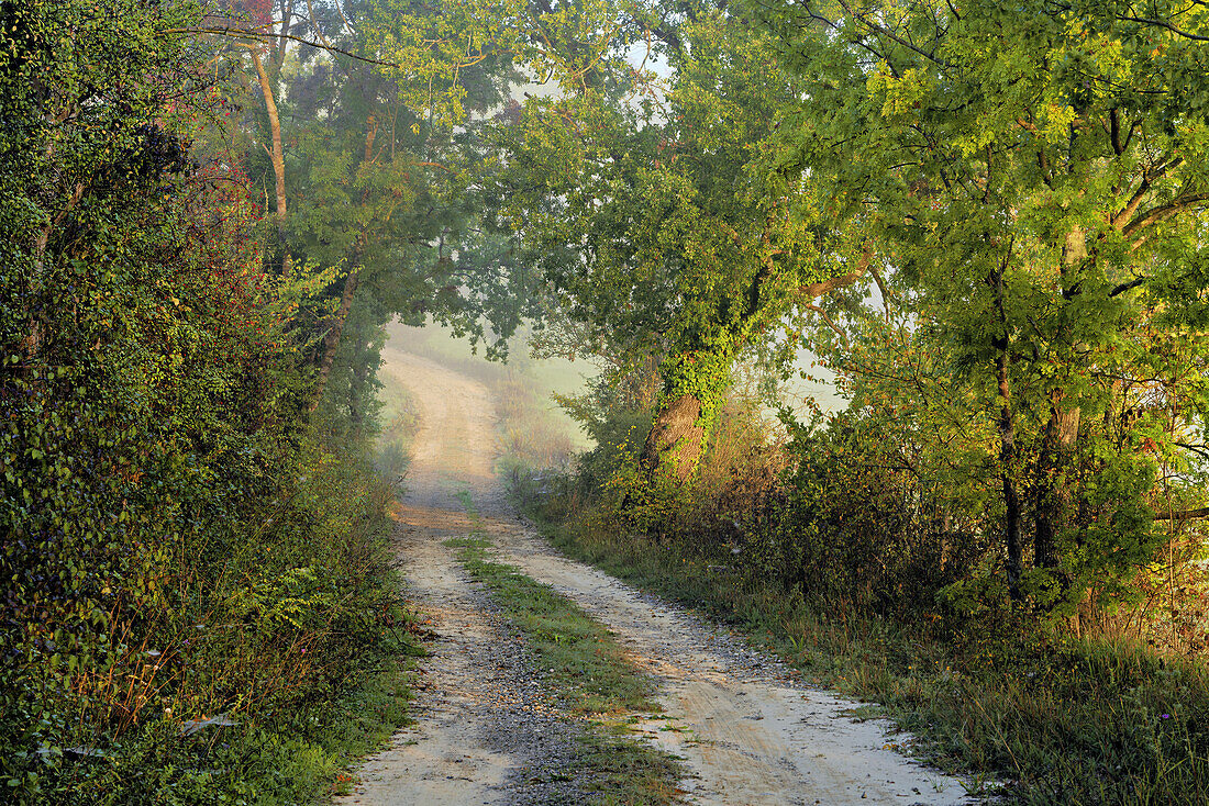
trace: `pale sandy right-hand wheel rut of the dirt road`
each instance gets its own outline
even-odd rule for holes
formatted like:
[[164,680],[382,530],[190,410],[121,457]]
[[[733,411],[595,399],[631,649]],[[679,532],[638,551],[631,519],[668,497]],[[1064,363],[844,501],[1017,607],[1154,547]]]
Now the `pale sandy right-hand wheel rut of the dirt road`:
[[[968,804],[979,782],[912,762],[909,738],[862,703],[803,685],[777,657],[692,613],[568,559],[523,524],[497,527],[502,561],[573,599],[658,682],[699,804]],[[653,727],[648,725],[647,727]]]

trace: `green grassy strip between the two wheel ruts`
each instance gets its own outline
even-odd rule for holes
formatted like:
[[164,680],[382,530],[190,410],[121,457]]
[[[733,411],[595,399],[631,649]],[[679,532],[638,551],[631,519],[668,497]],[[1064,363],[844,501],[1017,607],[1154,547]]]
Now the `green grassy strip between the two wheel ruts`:
[[462,497],[475,528],[447,541],[458,561],[486,585],[492,601],[523,634],[536,665],[568,712],[590,717],[579,736],[577,761],[591,781],[595,804],[676,804],[683,767],[676,756],[642,743],[626,729],[634,712],[661,711],[654,682],[626,661],[613,634],[569,598],[493,562],[491,543]]

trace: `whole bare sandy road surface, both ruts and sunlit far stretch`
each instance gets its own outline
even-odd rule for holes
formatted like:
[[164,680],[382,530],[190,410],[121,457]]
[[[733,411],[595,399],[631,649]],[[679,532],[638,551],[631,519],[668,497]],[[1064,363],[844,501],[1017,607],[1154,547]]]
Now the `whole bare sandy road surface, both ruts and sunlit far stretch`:
[[455,498],[459,489],[470,492],[504,562],[578,602],[660,680],[666,715],[644,727],[684,756],[689,801],[973,802],[956,779],[890,749],[904,741],[889,732],[891,725],[851,719],[861,703],[797,684],[776,659],[724,630],[550,549],[511,514],[491,472],[493,418],[482,384],[407,353],[387,349],[383,358],[383,372],[411,390],[421,411],[399,549],[413,601],[441,640],[423,662],[428,685],[417,697],[418,724],[366,764],[363,785],[341,802],[544,802],[542,793],[508,783],[539,748],[533,731],[523,730],[527,711],[501,723],[516,694],[486,673],[503,656],[515,657],[501,650],[515,639],[493,622],[481,592],[441,545],[469,532]]

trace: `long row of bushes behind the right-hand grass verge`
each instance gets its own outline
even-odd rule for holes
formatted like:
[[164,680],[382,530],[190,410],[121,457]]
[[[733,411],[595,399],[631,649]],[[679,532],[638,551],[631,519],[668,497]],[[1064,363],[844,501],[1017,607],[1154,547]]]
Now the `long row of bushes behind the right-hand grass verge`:
[[[601,508],[635,535],[867,615],[943,616],[954,627],[1019,619],[1019,630],[1041,619],[1179,651],[1204,643],[1199,532],[1152,522],[1163,505],[1153,463],[1128,441],[1091,434],[1094,425],[1095,450],[1071,457],[1063,487],[1072,515],[1055,543],[1059,562],[1029,568],[1013,601],[987,423],[955,425],[960,410],[866,382],[862,405],[809,423],[786,414],[776,436],[760,402],[735,393],[693,482],[678,485],[644,472],[636,443],[649,411],[615,405],[612,388],[566,401],[597,447],[573,477],[546,482],[562,493],[549,506]],[[1037,463],[1036,447],[1022,443],[1022,463]],[[1175,489],[1173,481],[1164,492]],[[1031,521],[1024,538],[1032,566]]]

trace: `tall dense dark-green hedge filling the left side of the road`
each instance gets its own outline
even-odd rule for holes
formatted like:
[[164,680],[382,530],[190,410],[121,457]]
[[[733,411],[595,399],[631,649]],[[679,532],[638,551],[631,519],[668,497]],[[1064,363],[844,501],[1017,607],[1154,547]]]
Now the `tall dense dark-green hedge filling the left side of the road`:
[[4,5],[6,802],[302,796],[266,770],[403,617],[388,493],[299,405],[305,289],[262,272],[238,160],[191,150],[198,13]]

